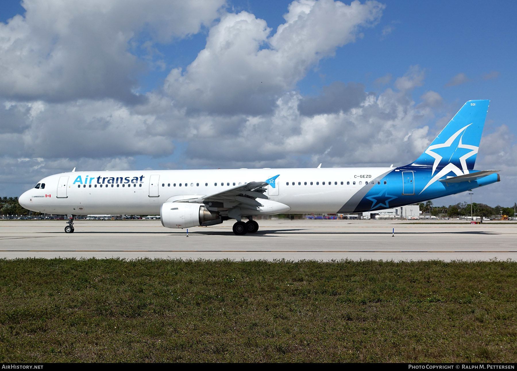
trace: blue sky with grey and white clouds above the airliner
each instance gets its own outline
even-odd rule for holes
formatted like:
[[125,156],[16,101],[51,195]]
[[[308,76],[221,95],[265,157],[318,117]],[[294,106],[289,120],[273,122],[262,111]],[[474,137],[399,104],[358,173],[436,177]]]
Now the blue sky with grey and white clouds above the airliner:
[[[476,169],[517,201],[513,1],[3,0],[0,196],[126,169],[402,166],[490,99]],[[468,193],[435,205],[470,202]]]

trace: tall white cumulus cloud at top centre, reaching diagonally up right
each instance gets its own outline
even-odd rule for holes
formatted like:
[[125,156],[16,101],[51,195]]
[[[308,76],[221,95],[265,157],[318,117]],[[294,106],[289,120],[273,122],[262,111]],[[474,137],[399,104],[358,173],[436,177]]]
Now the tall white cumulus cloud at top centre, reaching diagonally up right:
[[383,9],[374,1],[294,1],[272,36],[253,14],[226,14],[210,29],[205,49],[185,71],[173,69],[164,89],[190,110],[270,112],[283,91],[336,48],[355,41],[358,29],[375,24]]

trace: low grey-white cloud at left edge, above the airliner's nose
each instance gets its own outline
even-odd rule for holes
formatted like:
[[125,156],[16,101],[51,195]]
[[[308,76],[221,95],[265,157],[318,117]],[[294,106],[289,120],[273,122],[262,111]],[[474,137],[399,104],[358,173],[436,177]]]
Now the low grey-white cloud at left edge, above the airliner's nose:
[[[12,103],[5,111],[16,112],[11,116],[25,127],[0,133],[2,152],[14,156],[98,158],[174,149],[170,138],[159,133],[156,115],[139,114],[113,100]],[[4,112],[0,109],[0,116]]]

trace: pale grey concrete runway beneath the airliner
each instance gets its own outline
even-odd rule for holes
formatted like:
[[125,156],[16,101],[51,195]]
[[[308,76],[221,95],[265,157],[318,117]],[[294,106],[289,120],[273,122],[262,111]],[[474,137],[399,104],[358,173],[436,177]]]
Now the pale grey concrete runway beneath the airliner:
[[422,222],[258,220],[256,234],[235,236],[227,221],[187,238],[159,220],[76,221],[73,234],[65,221],[0,221],[0,258],[517,260],[515,223]]

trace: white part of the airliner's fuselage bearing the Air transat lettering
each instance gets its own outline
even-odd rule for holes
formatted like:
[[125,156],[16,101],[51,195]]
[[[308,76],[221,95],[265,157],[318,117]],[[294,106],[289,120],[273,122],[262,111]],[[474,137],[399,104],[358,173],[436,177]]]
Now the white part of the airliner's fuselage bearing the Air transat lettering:
[[391,170],[357,167],[70,172],[42,179],[44,189],[28,190],[19,200],[29,210],[52,214],[159,214],[160,206],[167,201],[210,195],[280,175],[275,188],[267,187],[269,199],[289,206],[290,213],[334,213],[365,182]]

